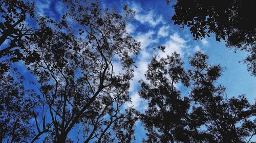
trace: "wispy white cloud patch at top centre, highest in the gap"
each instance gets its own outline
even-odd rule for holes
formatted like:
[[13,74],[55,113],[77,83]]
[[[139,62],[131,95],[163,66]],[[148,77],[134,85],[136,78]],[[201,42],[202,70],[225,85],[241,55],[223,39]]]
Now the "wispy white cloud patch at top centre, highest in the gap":
[[155,27],[160,23],[165,23],[162,15],[157,15],[155,11],[144,11],[137,4],[132,4],[132,9],[136,11],[135,20],[138,20],[140,23],[145,24],[148,23],[150,26]]

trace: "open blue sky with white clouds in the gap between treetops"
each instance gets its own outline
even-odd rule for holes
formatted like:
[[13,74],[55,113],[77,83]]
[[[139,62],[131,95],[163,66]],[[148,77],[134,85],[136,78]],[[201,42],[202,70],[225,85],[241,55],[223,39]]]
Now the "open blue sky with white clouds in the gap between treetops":
[[[245,52],[237,51],[234,53],[232,49],[225,46],[225,42],[218,42],[214,35],[210,38],[195,41],[190,34],[188,28],[179,30],[178,25],[174,25],[171,16],[174,13],[172,4],[167,5],[166,1],[99,1],[102,7],[115,6],[121,10],[123,4],[128,4],[129,8],[136,11],[133,20],[127,21],[126,31],[134,36],[141,43],[141,50],[134,57],[135,65],[138,67],[134,71],[134,78],[131,81],[130,95],[132,103],[126,104],[127,107],[134,106],[140,111],[144,111],[147,104],[138,95],[140,84],[138,80],[145,80],[144,74],[147,64],[152,56],[157,53],[161,57],[176,51],[181,54],[182,60],[185,62],[185,69],[189,68],[188,56],[193,55],[198,50],[208,54],[209,63],[212,65],[220,64],[225,67],[222,76],[217,81],[226,87],[228,97],[245,94],[247,99],[252,103],[256,93],[256,78],[251,76],[247,71],[247,66],[242,62],[245,59]],[[61,1],[54,0],[38,0],[36,1],[37,13],[41,16],[48,15],[56,20],[65,12],[61,6]],[[166,46],[165,52],[153,50],[158,45]],[[119,63],[114,63],[114,70],[121,70]],[[179,90],[186,96],[186,89],[181,85],[176,85]],[[143,126],[138,122],[136,124],[136,141],[141,142],[144,137]]]

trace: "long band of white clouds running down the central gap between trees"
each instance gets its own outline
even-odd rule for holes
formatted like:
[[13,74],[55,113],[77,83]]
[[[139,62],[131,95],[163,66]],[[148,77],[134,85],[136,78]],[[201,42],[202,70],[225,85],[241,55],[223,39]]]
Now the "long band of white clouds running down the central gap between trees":
[[[181,38],[177,33],[170,35],[168,38],[169,31],[171,31],[170,27],[165,24],[163,17],[156,15],[153,10],[144,11],[136,4],[132,4],[132,9],[136,11],[135,20],[142,24],[148,24],[151,27],[146,33],[139,32],[135,34],[137,27],[131,23],[126,25],[127,33],[133,33],[135,39],[141,44],[140,53],[135,60],[137,68],[134,69],[134,78],[130,82],[129,92],[131,94],[132,103],[127,103],[126,105],[129,107],[134,106],[136,109],[143,111],[147,107],[147,102],[139,97],[138,91],[141,86],[138,81],[142,79],[145,82],[149,82],[146,80],[144,74],[146,73],[148,63],[150,63],[154,54],[152,46],[155,46],[155,44],[159,42],[159,38],[166,38],[167,41],[164,43],[164,46],[166,46],[165,52],[156,52],[162,57],[171,54],[174,51],[183,55],[184,49],[187,47],[187,41]],[[158,31],[155,31],[154,27],[158,24],[162,24],[162,26],[159,26],[160,28],[157,28]],[[176,85],[176,87],[179,86]]]

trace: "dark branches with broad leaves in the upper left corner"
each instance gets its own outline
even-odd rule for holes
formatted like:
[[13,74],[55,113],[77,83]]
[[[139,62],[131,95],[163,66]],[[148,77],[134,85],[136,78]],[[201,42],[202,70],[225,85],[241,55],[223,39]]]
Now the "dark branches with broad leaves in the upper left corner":
[[3,56],[9,56],[11,62],[23,60],[27,64],[39,59],[39,55],[34,50],[28,51],[25,48],[24,41],[30,36],[42,33],[43,30],[37,30],[27,24],[28,15],[29,18],[34,18],[34,3],[21,0],[1,0],[0,4],[1,75],[9,69],[8,63],[2,59]]

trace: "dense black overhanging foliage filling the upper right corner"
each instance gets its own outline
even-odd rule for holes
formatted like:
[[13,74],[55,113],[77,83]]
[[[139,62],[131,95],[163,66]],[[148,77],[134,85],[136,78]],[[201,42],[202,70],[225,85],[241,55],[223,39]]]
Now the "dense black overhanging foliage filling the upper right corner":
[[[169,2],[169,1],[167,1]],[[190,27],[195,40],[202,39],[211,33],[216,40],[226,40],[228,47],[245,50],[251,54],[244,60],[248,71],[256,75],[256,23],[254,7],[250,1],[183,1],[178,0],[173,6],[174,24]]]

